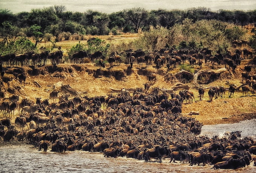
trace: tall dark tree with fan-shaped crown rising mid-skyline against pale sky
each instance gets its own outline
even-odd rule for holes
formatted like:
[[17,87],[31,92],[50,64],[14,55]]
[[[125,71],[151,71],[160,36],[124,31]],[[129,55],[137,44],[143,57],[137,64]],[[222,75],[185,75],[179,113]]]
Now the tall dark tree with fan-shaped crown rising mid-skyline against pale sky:
[[147,23],[148,12],[143,8],[132,8],[124,11],[125,19],[134,26],[134,31],[138,33],[139,29]]

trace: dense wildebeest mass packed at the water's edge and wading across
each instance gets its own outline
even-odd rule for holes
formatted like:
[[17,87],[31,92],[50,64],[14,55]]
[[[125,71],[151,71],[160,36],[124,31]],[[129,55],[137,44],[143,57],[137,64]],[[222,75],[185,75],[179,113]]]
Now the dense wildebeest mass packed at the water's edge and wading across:
[[107,97],[69,97],[57,94],[59,102],[52,98],[52,103],[49,99],[22,99],[18,102],[20,116],[15,119],[21,131],[3,118],[1,137],[4,141],[17,137],[44,151],[48,147],[52,152],[85,150],[160,162],[170,158],[170,162],[190,165],[214,164],[213,168],[245,167],[253,161],[251,154],[256,154],[256,142],[241,138],[239,131],[224,138],[196,137],[201,123],[181,115],[183,97],[175,93],[168,99],[158,88],[148,94],[137,88],[133,96],[123,89]]

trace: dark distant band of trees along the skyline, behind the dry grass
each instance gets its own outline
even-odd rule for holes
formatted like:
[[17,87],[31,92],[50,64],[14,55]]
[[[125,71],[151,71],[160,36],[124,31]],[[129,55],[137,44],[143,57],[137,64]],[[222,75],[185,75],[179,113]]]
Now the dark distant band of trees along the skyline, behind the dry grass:
[[[220,9],[217,12],[209,8],[191,8],[187,10],[151,10],[143,8],[125,9],[119,12],[106,14],[103,12],[91,11],[70,12],[66,7],[55,5],[43,9],[32,9],[30,12],[12,14],[8,10],[0,10],[0,27],[4,21],[10,21],[12,25],[26,28],[34,24],[41,26],[43,33],[50,33],[56,37],[62,32],[79,33],[90,35],[114,35],[119,32],[147,31],[150,26],[154,28],[166,27],[169,29],[174,24],[181,24],[185,18],[198,20],[219,20],[223,22],[241,25],[256,23],[256,10],[254,11],[228,11]],[[29,34],[29,33],[26,33]]]

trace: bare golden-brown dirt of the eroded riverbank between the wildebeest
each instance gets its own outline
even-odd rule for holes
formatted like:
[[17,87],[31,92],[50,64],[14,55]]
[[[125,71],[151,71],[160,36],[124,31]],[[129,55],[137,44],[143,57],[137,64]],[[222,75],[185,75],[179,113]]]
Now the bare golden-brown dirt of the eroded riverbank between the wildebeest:
[[[202,86],[224,86],[228,88],[229,85],[227,81],[240,86],[242,84],[241,72],[244,69],[244,65],[248,62],[248,60],[244,60],[242,65],[239,66],[235,72],[227,72],[227,74],[221,75],[217,80],[209,84],[203,84]],[[27,74],[25,87],[20,85],[11,74],[5,74],[4,77],[9,78],[11,81],[7,83],[3,82],[1,87],[4,88],[2,88],[2,90],[12,91],[11,93],[5,92],[5,97],[18,94],[21,98],[27,97],[35,101],[35,97],[41,97],[42,99],[49,98],[49,93],[53,90],[53,87],[58,89],[61,85],[67,84],[80,93],[81,96],[106,96],[112,91],[110,88],[144,88],[143,84],[148,82],[147,75],[151,72],[157,74],[157,82],[152,83],[150,89],[154,87],[170,89],[175,82],[165,80],[166,67],[156,69],[154,66],[149,66],[146,69],[141,69],[134,64],[131,74],[128,75],[126,71],[128,66],[129,65],[121,63],[121,65],[116,65],[109,69],[109,65],[107,64],[106,68],[101,72],[97,72],[99,67],[95,66],[93,63],[78,65],[65,63],[58,65],[56,69],[52,69],[52,66],[48,65],[35,67],[34,70],[32,70],[31,67],[24,66],[24,71]],[[224,65],[222,65],[222,67],[224,67]],[[203,66],[203,69],[207,68],[211,68],[211,66]],[[195,69],[198,69],[198,66],[195,67]],[[175,69],[175,71],[177,72],[179,69]],[[256,74],[255,68],[253,68],[251,73]],[[120,78],[120,75],[123,77]],[[35,83],[38,83],[40,86]],[[183,113],[198,111],[200,114],[193,115],[192,117],[195,117],[203,123],[203,125],[234,123],[244,119],[256,118],[256,96],[254,93],[250,92],[251,96],[241,97],[242,91],[236,91],[234,97],[229,98],[227,91],[225,98],[219,97],[209,102],[207,94],[208,89],[206,89],[203,101],[199,101],[198,90],[195,88],[195,85],[191,81],[186,84],[188,84],[190,90],[194,92],[197,102],[193,102],[192,104],[186,104],[186,102],[184,102],[182,111]],[[178,93],[179,91],[177,90],[175,92]],[[70,98],[72,97],[74,96],[70,96]],[[14,121],[14,119],[12,121]]]

